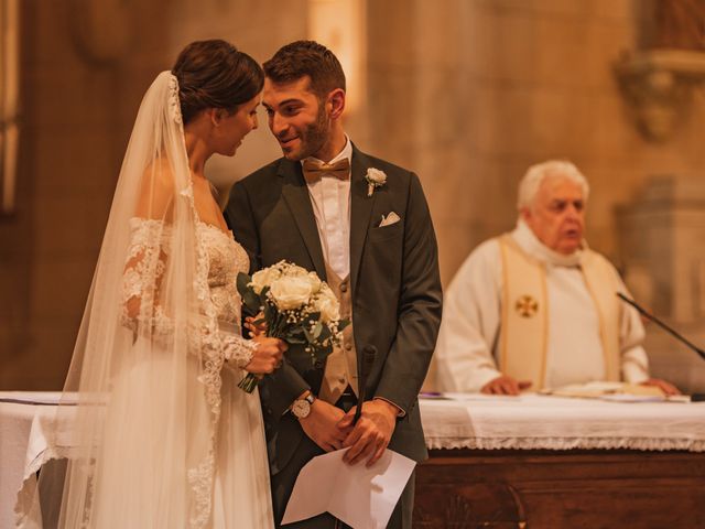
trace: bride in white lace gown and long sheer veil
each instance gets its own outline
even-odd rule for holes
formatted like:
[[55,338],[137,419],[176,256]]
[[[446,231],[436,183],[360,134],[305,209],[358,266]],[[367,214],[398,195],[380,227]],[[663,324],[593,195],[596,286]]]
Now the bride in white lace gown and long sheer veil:
[[78,449],[47,526],[273,527],[259,398],[237,384],[285,344],[240,336],[248,257],[204,176],[257,128],[262,84],[250,56],[202,41],[142,100],[65,386],[78,406],[59,407]]

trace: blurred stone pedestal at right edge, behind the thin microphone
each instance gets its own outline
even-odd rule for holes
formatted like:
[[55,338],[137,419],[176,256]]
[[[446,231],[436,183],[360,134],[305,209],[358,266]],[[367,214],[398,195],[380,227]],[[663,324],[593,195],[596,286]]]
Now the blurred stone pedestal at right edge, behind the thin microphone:
[[[699,347],[705,346],[705,182],[652,177],[617,210],[625,281],[636,301]],[[705,360],[646,323],[652,375],[705,391]]]

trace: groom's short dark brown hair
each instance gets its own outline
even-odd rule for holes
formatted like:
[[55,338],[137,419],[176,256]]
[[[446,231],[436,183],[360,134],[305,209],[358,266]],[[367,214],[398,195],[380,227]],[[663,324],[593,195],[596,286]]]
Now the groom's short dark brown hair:
[[318,98],[330,90],[345,90],[345,73],[335,54],[315,41],[296,41],[279,48],[263,65],[264,75],[276,84],[311,78],[311,89]]

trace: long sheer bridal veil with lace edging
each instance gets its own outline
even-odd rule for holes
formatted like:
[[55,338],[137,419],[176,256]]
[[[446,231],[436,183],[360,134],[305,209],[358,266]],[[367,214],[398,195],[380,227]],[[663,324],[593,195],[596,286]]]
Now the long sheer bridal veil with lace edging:
[[178,84],[163,72],[140,106],[54,421],[70,423],[69,440],[61,428],[50,440],[65,477],[42,471],[45,499],[22,527],[40,511],[44,527],[212,523],[225,335],[198,223]]

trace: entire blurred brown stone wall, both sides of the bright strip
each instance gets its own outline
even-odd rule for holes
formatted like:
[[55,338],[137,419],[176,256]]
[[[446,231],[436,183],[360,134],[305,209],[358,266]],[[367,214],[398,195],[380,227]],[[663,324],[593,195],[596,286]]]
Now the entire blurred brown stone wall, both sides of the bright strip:
[[[322,0],[316,0],[322,1]],[[362,1],[362,0],[358,0]],[[195,39],[263,61],[308,34],[308,0],[87,0],[22,4],[23,129],[18,212],[0,219],[0,388],[56,389],[73,348],[112,190],[140,98]],[[416,171],[442,278],[514,224],[528,165],[568,158],[592,183],[587,237],[629,264],[615,216],[654,174],[695,180],[704,100],[673,137],[646,140],[612,65],[640,45],[639,0],[366,2],[364,104],[347,129],[366,151]],[[279,155],[261,115],[224,190]]]

